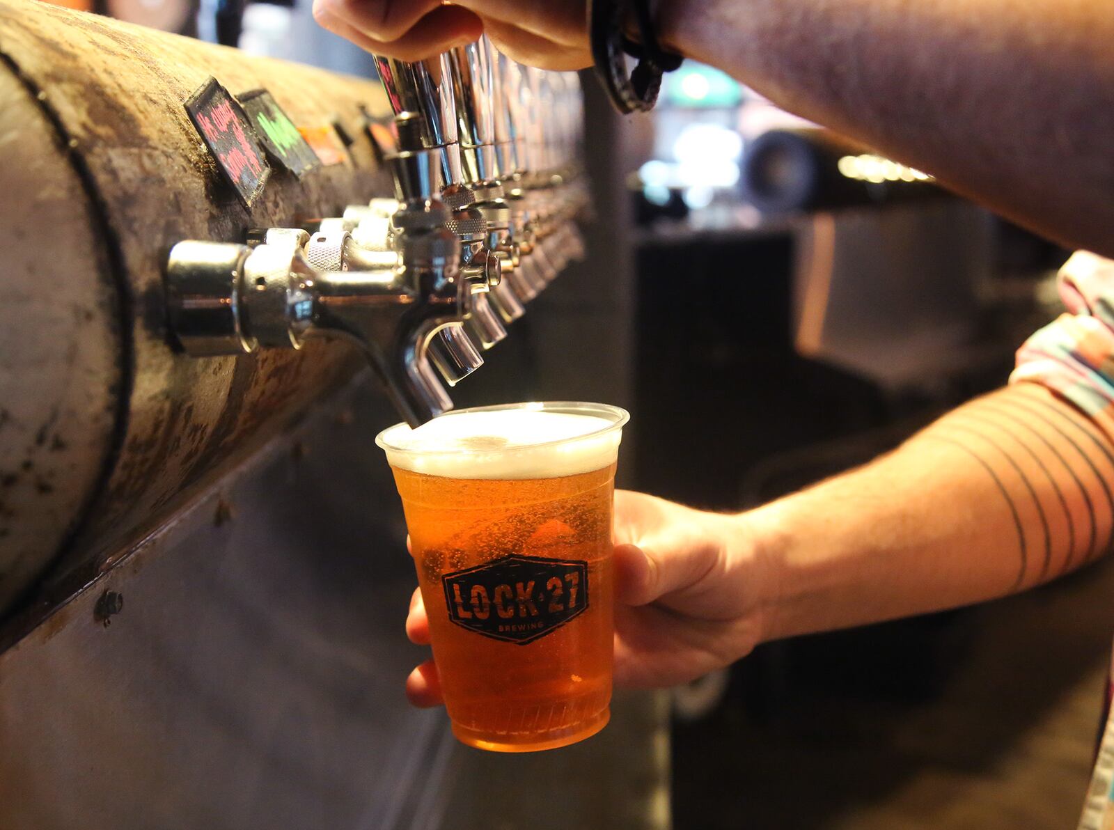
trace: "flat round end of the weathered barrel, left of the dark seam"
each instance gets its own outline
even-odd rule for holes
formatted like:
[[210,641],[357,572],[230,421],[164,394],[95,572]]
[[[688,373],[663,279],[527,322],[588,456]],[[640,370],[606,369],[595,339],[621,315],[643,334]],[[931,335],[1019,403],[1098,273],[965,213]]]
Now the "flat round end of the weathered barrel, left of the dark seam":
[[0,608],[49,563],[88,504],[120,389],[119,310],[89,204],[51,126],[0,69]]

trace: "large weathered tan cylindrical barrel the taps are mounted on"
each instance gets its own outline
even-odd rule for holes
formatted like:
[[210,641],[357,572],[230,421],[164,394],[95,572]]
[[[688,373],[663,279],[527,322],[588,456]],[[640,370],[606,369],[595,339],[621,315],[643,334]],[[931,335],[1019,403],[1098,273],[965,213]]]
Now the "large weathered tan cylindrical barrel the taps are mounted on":
[[[360,129],[363,109],[389,113],[374,81],[22,0],[0,0],[0,232],[30,240],[3,277],[21,286],[18,300],[0,303],[0,406],[21,407],[0,419],[0,476],[17,477],[0,490],[2,611],[63,538],[39,592],[46,605],[360,365],[335,343],[176,353],[162,283],[169,247],[339,215],[391,188]],[[268,89],[300,127],[339,118],[355,139],[349,157],[301,180],[276,170],[248,213],[183,107],[209,76],[233,95]],[[67,303],[82,319],[67,323]],[[56,448],[52,481],[71,479],[52,492],[20,475],[42,446]]]

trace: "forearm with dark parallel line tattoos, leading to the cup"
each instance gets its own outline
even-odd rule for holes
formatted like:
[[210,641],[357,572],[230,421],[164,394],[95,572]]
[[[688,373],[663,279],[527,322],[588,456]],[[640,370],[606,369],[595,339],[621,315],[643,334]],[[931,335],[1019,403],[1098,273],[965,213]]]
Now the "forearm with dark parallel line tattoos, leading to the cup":
[[1020,384],[744,517],[775,639],[1003,596],[1110,549],[1114,445]]

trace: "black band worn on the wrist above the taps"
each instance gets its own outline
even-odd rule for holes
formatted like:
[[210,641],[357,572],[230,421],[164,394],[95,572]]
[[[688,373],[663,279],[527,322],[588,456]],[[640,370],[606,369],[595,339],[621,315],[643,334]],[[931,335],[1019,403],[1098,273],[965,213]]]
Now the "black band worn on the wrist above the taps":
[[[634,9],[641,42],[623,31],[627,3]],[[653,109],[662,88],[662,74],[681,66],[680,55],[667,52],[657,42],[649,0],[588,0],[588,37],[596,74],[619,113],[646,113]],[[637,59],[629,77],[626,56]]]

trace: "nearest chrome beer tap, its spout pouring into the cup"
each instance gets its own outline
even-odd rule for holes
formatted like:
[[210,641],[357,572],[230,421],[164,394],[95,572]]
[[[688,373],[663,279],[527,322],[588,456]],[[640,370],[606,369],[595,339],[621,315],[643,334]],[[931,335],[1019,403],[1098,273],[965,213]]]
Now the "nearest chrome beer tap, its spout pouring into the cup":
[[[463,274],[460,240],[440,201],[443,154],[420,139],[420,116],[399,123],[399,152],[388,158],[398,209],[380,250],[333,238],[348,270],[315,268],[304,231],[272,228],[248,245],[185,241],[170,251],[169,322],[192,355],[299,349],[311,336],[354,342],[412,426],[452,408],[433,365],[452,384],[482,358],[465,334],[468,297],[498,276]],[[315,250],[314,257],[322,250]],[[482,289],[480,283],[483,283]]]

